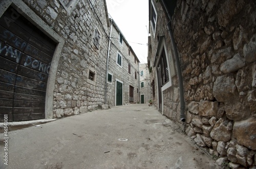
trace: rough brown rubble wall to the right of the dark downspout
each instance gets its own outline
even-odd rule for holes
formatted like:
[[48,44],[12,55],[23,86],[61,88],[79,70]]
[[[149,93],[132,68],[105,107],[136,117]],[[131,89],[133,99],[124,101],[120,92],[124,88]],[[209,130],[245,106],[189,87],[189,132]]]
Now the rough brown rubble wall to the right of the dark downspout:
[[172,19],[186,133],[233,168],[256,167],[255,18],[254,1],[179,0]]

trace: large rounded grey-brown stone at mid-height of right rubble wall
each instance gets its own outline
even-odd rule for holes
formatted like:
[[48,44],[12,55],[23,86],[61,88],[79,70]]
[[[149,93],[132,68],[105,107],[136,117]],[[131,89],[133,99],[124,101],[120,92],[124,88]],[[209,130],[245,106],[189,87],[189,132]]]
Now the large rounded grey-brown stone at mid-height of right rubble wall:
[[237,87],[234,84],[234,77],[232,75],[217,77],[214,82],[213,93],[214,97],[219,102],[225,102],[232,98],[237,93]]

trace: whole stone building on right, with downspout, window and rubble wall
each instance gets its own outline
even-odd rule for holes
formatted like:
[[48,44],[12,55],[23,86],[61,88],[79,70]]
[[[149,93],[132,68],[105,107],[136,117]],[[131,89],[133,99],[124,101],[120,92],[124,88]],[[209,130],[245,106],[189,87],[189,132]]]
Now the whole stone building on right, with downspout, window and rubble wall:
[[256,3],[149,1],[148,67],[163,115],[232,168],[256,166]]

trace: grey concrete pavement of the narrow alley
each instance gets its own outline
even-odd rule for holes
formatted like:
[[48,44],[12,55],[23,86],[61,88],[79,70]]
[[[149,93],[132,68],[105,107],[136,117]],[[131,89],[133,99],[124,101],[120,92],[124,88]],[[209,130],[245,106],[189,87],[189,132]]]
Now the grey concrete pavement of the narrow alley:
[[219,168],[179,130],[147,104],[95,110],[9,131],[0,168]]

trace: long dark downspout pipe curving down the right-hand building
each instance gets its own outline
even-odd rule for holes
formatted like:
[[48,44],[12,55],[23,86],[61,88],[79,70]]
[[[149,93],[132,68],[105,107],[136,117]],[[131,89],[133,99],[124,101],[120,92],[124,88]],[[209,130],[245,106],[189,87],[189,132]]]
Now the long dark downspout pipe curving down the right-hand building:
[[177,50],[177,45],[174,40],[174,35],[172,31],[172,15],[170,14],[170,11],[165,3],[164,0],[162,0],[163,6],[165,8],[165,11],[168,14],[168,22],[167,22],[167,27],[168,27],[168,32],[170,36],[170,40],[172,41],[173,44],[173,49],[174,49],[174,55],[175,55],[175,60],[176,60],[176,65],[177,65],[177,74],[178,74],[178,79],[179,79],[179,88],[180,88],[180,120],[182,122],[185,122],[185,102],[184,102],[184,91],[183,91],[183,78],[182,78],[182,73],[181,73],[181,67],[180,67],[180,59],[179,59],[179,54]]

